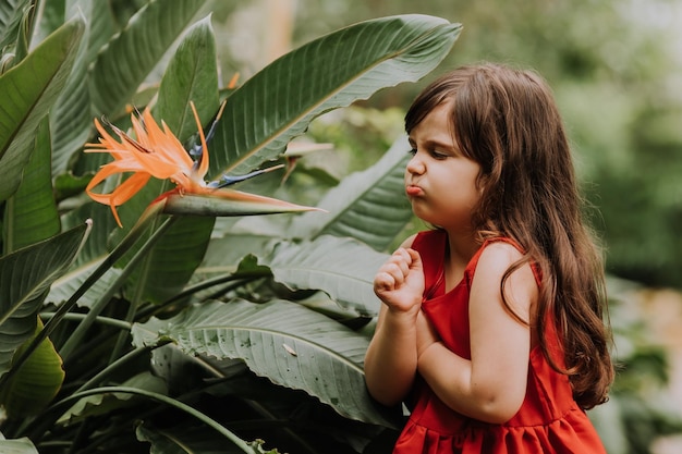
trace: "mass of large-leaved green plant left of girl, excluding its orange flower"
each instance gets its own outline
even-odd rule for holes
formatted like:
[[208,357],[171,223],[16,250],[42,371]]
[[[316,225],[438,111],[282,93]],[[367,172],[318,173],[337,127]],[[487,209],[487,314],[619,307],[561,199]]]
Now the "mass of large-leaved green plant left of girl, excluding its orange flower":
[[[149,1],[123,26],[95,0],[65,3],[0,2],[0,431],[9,439],[0,449],[390,445],[386,428],[399,415],[366,394],[363,327],[377,310],[368,280],[411,214],[393,196],[403,144],[338,185],[322,171],[242,185],[305,193],[327,213],[145,211],[171,188],[150,181],[120,207],[123,229],[83,196],[106,160],[81,151],[95,139],[93,116],[126,130],[127,107],[146,105],[190,146],[190,101],[208,124],[227,98],[209,177],[291,164],[284,150],[313,119],[424,76],[460,25],[424,15],[358,23],[220,89],[204,1]],[[167,56],[162,77],[141,89]],[[319,194],[309,195],[310,181]]]

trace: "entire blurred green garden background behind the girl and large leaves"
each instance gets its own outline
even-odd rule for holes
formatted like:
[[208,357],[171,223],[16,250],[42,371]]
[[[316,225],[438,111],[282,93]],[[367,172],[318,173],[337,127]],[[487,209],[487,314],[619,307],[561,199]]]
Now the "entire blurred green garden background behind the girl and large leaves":
[[[117,10],[131,3],[118,0]],[[605,437],[610,453],[682,452],[681,1],[255,0],[215,1],[211,11],[223,83],[367,19],[423,13],[464,25],[450,57],[418,84],[312,125],[309,135],[337,151],[307,165],[339,177],[378,159],[402,134],[411,99],[448,69],[488,60],[546,77],[607,257],[619,375],[595,422],[622,421]]]

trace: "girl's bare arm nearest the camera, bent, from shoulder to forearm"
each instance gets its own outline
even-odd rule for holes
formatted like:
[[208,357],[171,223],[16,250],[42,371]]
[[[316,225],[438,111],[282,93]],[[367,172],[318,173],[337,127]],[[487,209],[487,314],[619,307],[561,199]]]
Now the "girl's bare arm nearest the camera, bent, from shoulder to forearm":
[[[520,258],[503,243],[488,246],[479,258],[468,307],[471,360],[436,339],[418,355],[419,373],[440,400],[486,422],[511,419],[526,393],[531,329],[509,312],[500,295],[504,271]],[[504,291],[511,308],[527,321],[538,295],[531,266],[514,271]]]

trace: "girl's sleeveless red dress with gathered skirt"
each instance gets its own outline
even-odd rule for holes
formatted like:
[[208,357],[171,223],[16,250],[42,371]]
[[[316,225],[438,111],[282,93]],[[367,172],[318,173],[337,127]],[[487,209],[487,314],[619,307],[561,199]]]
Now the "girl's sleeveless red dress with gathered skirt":
[[[503,241],[519,247],[508,238],[491,241]],[[447,234],[441,231],[422,232],[412,245],[419,251],[424,262],[425,294],[434,295],[423,303],[422,310],[443,344],[466,359],[471,359],[471,284],[478,257],[491,241],[478,249],[466,266],[462,282],[447,294],[444,283],[439,279]],[[535,274],[539,284],[538,273]],[[547,338],[555,351],[559,348],[553,330]],[[560,354],[552,354],[552,357],[562,358]],[[563,360],[559,359],[557,364],[563,365]],[[450,409],[418,376],[410,404],[412,414],[395,443],[393,454],[606,454],[592,422],[573,400],[568,377],[551,368],[539,346],[531,351],[528,384],[523,404],[519,413],[502,425],[478,421]]]

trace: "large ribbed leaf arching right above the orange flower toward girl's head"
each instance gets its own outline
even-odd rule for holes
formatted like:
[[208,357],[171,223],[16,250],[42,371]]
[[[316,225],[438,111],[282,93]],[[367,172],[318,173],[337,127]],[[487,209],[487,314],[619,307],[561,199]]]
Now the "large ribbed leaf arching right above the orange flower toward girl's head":
[[273,159],[326,111],[419,79],[448,54],[460,29],[426,15],[382,17],[276,60],[230,96],[212,147],[212,180]]

